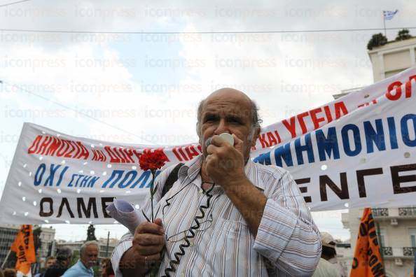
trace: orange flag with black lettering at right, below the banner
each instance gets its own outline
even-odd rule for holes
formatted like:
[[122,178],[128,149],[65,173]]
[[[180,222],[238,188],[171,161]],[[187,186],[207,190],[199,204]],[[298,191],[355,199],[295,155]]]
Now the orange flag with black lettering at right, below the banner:
[[385,276],[371,208],[365,208],[350,276]]

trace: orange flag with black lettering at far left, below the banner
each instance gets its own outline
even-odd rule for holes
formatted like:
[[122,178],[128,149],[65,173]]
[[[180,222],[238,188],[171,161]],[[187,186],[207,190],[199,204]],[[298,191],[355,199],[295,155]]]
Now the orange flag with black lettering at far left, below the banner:
[[16,271],[22,272],[24,276],[31,276],[30,264],[36,262],[32,225],[22,225],[11,250],[18,257]]

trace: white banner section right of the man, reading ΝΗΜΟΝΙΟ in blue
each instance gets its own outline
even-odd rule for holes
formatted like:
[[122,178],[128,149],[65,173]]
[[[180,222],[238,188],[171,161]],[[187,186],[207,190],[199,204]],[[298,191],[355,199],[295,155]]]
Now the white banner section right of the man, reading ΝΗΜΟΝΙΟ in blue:
[[289,170],[312,211],[416,204],[415,94],[412,68],[282,120],[254,161]]

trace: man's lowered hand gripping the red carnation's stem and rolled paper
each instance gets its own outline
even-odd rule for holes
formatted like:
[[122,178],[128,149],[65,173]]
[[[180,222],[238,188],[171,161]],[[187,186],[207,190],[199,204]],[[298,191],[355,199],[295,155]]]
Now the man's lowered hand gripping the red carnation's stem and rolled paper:
[[[134,231],[133,246],[123,255],[120,261],[120,270],[123,276],[141,276],[151,269],[151,264],[160,261],[160,253],[165,246],[165,230],[162,220],[156,218],[155,222],[142,222]],[[122,264],[134,264],[134,267],[125,267]]]

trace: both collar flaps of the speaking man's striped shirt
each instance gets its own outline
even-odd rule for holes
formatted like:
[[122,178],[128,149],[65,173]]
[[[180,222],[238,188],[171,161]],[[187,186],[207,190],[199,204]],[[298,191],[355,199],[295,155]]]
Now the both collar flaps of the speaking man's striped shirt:
[[[204,160],[203,155],[199,155],[195,157],[195,159],[191,159],[189,162],[186,162],[181,166],[181,168],[178,171],[178,178],[180,182],[183,183],[189,183],[193,182],[195,178],[197,178],[197,175],[200,173],[200,169],[202,166],[202,162]],[[249,178],[250,182],[258,187],[261,191],[265,190],[264,183],[261,182],[261,179],[258,178],[258,172],[256,172],[256,163],[251,161],[247,162],[247,164],[244,166],[244,173],[246,173],[247,178]]]

